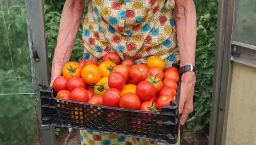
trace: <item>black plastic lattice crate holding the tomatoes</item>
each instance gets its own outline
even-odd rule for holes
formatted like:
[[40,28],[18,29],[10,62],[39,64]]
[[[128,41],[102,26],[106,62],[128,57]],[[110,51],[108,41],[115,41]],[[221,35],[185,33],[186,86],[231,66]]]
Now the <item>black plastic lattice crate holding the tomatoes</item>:
[[[174,67],[179,69],[178,64]],[[155,142],[175,144],[178,137],[178,104],[180,82],[176,102],[162,107],[160,112],[129,110],[100,106],[55,98],[53,88],[46,85],[40,90],[42,124],[68,127],[109,134],[142,138]]]

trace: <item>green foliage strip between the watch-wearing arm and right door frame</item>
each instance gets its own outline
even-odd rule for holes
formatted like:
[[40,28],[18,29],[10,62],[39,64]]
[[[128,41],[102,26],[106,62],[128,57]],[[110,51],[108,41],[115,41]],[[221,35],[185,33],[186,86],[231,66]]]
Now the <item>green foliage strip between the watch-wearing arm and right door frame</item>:
[[197,46],[196,46],[196,86],[195,114],[187,121],[191,126],[203,128],[210,124],[213,93],[213,74],[217,30],[217,0],[198,0],[197,11]]

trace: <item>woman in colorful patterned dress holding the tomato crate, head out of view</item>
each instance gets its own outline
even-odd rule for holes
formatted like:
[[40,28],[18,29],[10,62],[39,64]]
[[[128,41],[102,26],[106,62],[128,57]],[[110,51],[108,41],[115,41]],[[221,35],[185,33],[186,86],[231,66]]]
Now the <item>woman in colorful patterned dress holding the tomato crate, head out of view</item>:
[[[193,0],[66,0],[52,65],[52,82],[69,61],[83,12],[83,59],[101,61],[109,52],[146,63],[155,55],[166,67],[180,60],[180,125],[193,111],[196,80],[196,10]],[[101,136],[98,140],[94,136]],[[104,140],[104,141],[102,141]],[[160,144],[132,137],[81,131],[82,144]],[[177,144],[179,144],[179,139]]]

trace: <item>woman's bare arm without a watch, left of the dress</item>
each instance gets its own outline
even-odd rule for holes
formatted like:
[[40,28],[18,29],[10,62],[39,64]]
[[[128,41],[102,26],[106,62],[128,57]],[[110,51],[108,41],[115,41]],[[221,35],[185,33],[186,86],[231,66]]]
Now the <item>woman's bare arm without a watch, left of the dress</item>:
[[62,10],[57,46],[55,48],[51,84],[69,61],[85,8],[85,0],[67,0]]

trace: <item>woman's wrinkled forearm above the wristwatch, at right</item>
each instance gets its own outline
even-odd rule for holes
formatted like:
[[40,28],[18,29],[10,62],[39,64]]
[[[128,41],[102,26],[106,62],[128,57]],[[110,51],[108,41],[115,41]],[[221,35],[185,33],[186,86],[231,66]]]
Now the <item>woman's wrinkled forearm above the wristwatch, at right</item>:
[[177,28],[180,65],[195,66],[196,8],[193,0],[175,0],[174,17]]

